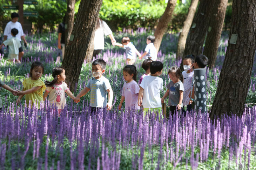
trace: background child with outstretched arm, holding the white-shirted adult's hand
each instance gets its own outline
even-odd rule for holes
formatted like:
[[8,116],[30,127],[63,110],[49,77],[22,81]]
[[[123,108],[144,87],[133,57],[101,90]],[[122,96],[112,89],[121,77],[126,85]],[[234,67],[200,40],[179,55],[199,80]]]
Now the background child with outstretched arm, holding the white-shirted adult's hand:
[[123,37],[122,44],[115,43],[116,46],[123,47],[126,53],[126,64],[133,65],[136,60],[136,54],[140,57],[140,52],[135,48],[135,46],[130,42],[129,37]]

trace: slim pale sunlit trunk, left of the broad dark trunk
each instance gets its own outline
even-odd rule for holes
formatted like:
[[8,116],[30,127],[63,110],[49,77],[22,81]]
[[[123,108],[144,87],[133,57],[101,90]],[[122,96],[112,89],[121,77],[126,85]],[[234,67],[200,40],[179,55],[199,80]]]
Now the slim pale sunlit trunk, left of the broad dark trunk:
[[188,9],[188,16],[183,23],[182,32],[178,37],[178,45],[177,45],[177,53],[176,53],[176,58],[178,59],[181,59],[184,57],[183,53],[186,45],[186,39],[188,36],[189,28],[191,27],[192,21],[196,13],[197,4],[198,4],[198,0],[191,0],[190,7]]

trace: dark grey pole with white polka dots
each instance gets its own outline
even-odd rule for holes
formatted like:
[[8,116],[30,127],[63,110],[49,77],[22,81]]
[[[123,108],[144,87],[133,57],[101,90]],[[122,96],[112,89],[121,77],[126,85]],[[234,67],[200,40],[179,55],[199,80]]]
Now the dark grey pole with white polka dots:
[[206,112],[206,69],[194,69],[195,81],[195,109]]

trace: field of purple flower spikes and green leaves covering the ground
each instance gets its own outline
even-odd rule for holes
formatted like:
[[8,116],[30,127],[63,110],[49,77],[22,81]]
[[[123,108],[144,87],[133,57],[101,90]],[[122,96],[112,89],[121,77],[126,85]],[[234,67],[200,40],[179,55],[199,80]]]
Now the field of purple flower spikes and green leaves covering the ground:
[[[150,30],[139,28],[116,34],[121,42],[129,36],[142,52]],[[45,74],[41,79],[51,80],[52,67],[58,56],[57,35],[27,36],[29,49],[24,62],[14,64],[1,57],[1,80],[21,90],[28,77],[31,62],[41,61]],[[168,68],[180,66],[176,60],[177,35],[163,37],[158,60],[164,63],[164,86],[169,82]],[[223,32],[216,67],[207,70],[207,104],[213,102],[218,76],[224,61],[228,34]],[[16,97],[0,89],[4,109],[0,113],[0,167],[1,169],[256,169],[256,107],[245,107],[242,117],[224,116],[210,120],[209,113],[175,115],[169,121],[158,114],[141,111],[118,111],[124,80],[124,50],[110,45],[101,57],[107,62],[105,76],[112,85],[114,109],[107,113],[90,114],[89,94],[76,104],[68,96],[67,106],[60,117],[48,103],[38,110],[15,105]],[[139,77],[144,73],[137,60]],[[57,64],[59,65],[59,64]],[[254,64],[255,66],[255,64]],[[256,103],[256,67],[253,68],[246,103]],[[91,65],[84,62],[74,94],[84,88],[91,77]],[[66,71],[67,72],[67,71]],[[164,94],[166,88],[161,91]],[[161,113],[160,113],[161,114]]]

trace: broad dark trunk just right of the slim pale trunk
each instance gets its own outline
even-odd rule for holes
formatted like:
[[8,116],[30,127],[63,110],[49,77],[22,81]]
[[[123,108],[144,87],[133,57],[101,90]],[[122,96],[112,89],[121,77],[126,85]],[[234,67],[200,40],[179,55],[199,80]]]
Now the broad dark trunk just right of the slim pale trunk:
[[[183,56],[202,54],[204,39],[209,27],[211,11],[214,5],[213,0],[200,0],[196,16],[189,31]],[[183,70],[183,63],[181,67]]]

